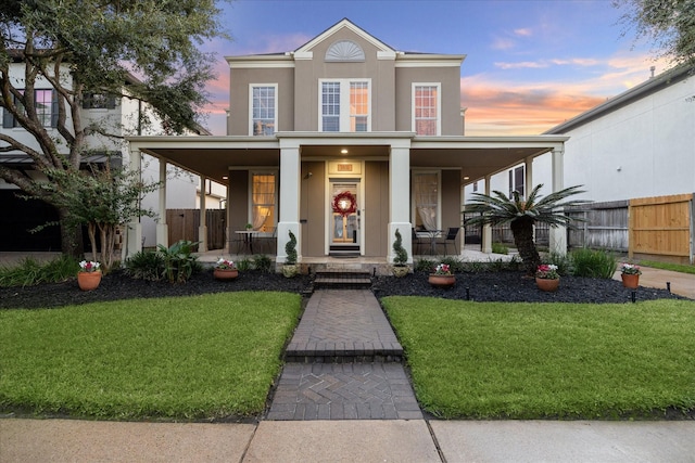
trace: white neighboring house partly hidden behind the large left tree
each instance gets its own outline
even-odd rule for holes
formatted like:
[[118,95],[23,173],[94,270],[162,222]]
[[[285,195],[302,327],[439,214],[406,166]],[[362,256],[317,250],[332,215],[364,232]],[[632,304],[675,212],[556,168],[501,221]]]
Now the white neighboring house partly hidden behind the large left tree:
[[[10,65],[10,76],[15,82],[15,87],[21,87],[24,76],[24,63],[18,61]],[[132,77],[135,81],[135,77]],[[127,92],[126,82],[126,92]],[[52,89],[48,81],[37,81],[36,85],[37,106],[40,106],[45,126],[51,127],[49,133],[51,137],[61,138],[55,127],[58,119],[58,93]],[[2,112],[2,128],[0,132],[5,133],[29,147],[37,149],[38,144],[34,137],[25,129],[18,127],[12,115]],[[141,115],[147,114],[152,125],[142,128]],[[68,113],[67,126],[72,124],[70,119],[72,115]],[[85,126],[90,123],[98,123],[106,128],[111,133],[115,133],[123,138],[127,134],[153,134],[162,132],[162,128],[157,126],[154,114],[149,111],[147,104],[123,97],[113,97],[104,94],[88,94],[83,104],[80,117]],[[199,131],[201,134],[206,133],[204,130]],[[123,140],[114,140],[98,134],[91,134],[87,138],[86,145],[92,151],[92,154],[83,159],[83,166],[88,163],[104,163],[111,157],[116,164],[123,163],[128,165],[129,152],[127,143]],[[59,144],[66,147],[66,144]],[[36,170],[31,164],[31,159],[21,152],[2,152],[0,153],[0,164],[7,167],[18,168],[26,176],[31,178],[45,178],[45,176]],[[181,175],[182,173],[182,175]],[[142,162],[142,177],[144,179],[157,180],[160,178],[159,159],[147,156]],[[168,168],[169,188],[166,192],[166,204],[168,207],[177,208],[194,208],[197,201],[197,182],[195,178],[187,172],[170,166]],[[58,219],[55,209],[41,201],[25,201],[20,197],[22,192],[13,184],[9,184],[0,180],[0,205],[2,205],[2,214],[0,214],[0,250],[60,250],[60,230],[58,227],[49,227],[40,233],[29,233],[28,230]],[[142,205],[146,208],[159,209],[159,194],[148,195]],[[153,246],[156,243],[156,221],[150,218],[142,219],[142,240],[146,246]]]

